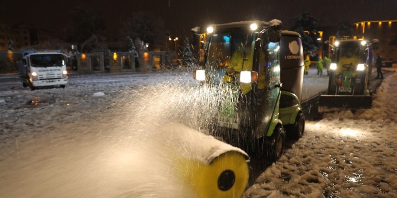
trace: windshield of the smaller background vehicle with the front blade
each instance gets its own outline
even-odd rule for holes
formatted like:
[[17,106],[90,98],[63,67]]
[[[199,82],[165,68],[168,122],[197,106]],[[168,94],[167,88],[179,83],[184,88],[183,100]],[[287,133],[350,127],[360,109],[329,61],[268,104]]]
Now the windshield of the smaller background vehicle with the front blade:
[[356,59],[358,63],[366,63],[366,48],[360,42],[341,42],[335,51],[333,62],[338,63],[341,59]]

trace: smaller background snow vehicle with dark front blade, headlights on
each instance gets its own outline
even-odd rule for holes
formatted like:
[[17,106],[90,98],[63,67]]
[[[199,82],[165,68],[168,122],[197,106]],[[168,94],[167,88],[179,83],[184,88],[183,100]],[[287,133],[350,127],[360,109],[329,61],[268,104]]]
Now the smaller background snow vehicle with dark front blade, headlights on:
[[370,108],[368,90],[373,51],[368,40],[337,40],[331,54],[328,93],[320,96],[319,112]]

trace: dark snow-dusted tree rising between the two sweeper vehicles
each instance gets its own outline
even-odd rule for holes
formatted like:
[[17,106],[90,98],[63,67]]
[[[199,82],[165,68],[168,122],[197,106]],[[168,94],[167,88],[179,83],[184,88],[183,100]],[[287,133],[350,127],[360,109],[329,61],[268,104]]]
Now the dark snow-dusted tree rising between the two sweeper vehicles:
[[316,51],[318,46],[320,46],[320,42],[316,38],[318,31],[315,28],[318,20],[311,16],[310,13],[303,13],[293,17],[290,22],[295,23],[291,30],[298,32],[302,36],[303,50],[312,57],[316,56]]

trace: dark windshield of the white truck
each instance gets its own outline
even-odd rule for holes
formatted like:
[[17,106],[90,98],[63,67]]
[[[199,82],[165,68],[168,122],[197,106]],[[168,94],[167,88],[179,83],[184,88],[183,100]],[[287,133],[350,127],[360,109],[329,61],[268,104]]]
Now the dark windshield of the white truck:
[[37,54],[31,55],[32,67],[55,67],[65,65],[64,56],[61,54]]

